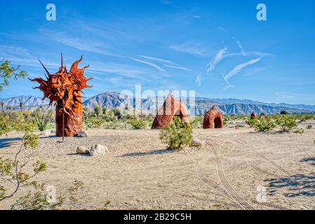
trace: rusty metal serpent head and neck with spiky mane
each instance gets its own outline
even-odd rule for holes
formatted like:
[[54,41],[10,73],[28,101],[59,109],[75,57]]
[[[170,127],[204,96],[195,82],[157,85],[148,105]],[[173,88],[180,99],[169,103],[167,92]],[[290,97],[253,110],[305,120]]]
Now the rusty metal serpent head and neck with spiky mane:
[[61,66],[57,73],[51,74],[48,69],[41,63],[43,69],[45,69],[47,75],[46,79],[34,78],[29,79],[39,83],[39,89],[43,92],[43,99],[48,98],[50,104],[55,102],[55,122],[56,122],[56,136],[62,136],[62,124],[65,124],[65,137],[73,137],[79,134],[82,130],[82,113],[83,104],[81,97],[81,90],[86,87],[92,87],[88,85],[88,80],[92,78],[86,78],[84,76],[84,70],[88,66],[84,66],[82,69],[78,68],[78,64],[81,59],[74,62],[70,71],[67,71],[66,66],[63,64],[63,57],[61,54]]

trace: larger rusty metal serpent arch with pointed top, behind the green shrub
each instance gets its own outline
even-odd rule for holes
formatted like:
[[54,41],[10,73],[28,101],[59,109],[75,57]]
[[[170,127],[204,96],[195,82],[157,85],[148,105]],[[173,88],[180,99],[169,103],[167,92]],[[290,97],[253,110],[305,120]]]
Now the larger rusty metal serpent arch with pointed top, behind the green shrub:
[[182,122],[187,123],[190,126],[188,113],[185,107],[169,93],[163,106],[158,110],[151,129],[161,129],[166,127],[172,122],[174,116],[180,116]]

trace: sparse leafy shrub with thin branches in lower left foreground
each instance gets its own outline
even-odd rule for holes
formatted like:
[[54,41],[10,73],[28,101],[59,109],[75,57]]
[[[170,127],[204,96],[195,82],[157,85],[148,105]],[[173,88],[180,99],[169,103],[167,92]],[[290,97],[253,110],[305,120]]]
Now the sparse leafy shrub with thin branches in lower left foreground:
[[[34,127],[36,123],[27,122],[23,116],[12,125],[13,130],[23,132],[24,135],[13,159],[0,156],[0,204],[12,198],[12,204],[8,205],[8,209],[12,210],[63,209],[64,206],[68,209],[85,209],[86,205],[80,201],[82,193],[78,193],[83,186],[81,181],[75,180],[66,190],[67,195],[54,195],[54,200],[45,183],[36,181],[36,176],[46,172],[48,166],[41,160],[34,160],[36,149],[39,148],[39,136],[34,134]],[[32,170],[26,172],[25,165],[33,160]],[[20,193],[21,188],[26,188],[27,193]],[[104,208],[93,209],[106,209],[108,204]]]

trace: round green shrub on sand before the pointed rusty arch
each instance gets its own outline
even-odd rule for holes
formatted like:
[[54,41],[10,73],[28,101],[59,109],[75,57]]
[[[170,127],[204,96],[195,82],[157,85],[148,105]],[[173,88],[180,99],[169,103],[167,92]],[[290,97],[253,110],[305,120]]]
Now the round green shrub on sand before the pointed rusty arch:
[[171,150],[189,146],[192,142],[192,128],[175,116],[173,121],[161,130],[160,139],[164,144],[168,144],[168,149]]

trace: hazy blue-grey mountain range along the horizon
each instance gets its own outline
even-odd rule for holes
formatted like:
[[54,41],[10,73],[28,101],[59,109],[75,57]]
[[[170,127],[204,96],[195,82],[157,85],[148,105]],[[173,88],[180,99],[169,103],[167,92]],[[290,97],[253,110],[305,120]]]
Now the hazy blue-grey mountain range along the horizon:
[[[136,104],[138,100],[138,104]],[[22,102],[23,109],[32,111],[39,106],[47,106],[48,99],[42,100],[40,97],[11,97],[8,99],[0,99],[0,103],[4,102],[5,106],[11,106],[13,109],[19,109],[19,104]],[[94,97],[86,99],[83,102],[83,106],[88,109],[94,109],[95,106],[103,106],[108,109],[119,107],[124,109],[126,106],[135,108],[136,105],[142,104],[143,113],[156,113],[156,109],[159,108],[164,102],[163,97],[148,98],[148,99],[135,99],[128,95],[121,95],[117,92],[104,92]],[[276,114],[281,111],[287,111],[289,113],[315,113],[315,105],[304,104],[274,104],[255,102],[250,99],[208,99],[204,97],[196,97],[195,104],[190,104],[187,99],[187,109],[191,114],[203,115],[205,111],[208,111],[211,106],[217,106],[222,114],[236,114],[244,115],[250,114],[253,111],[255,113]],[[139,108],[140,110],[140,108]]]

